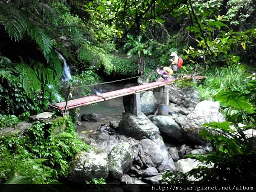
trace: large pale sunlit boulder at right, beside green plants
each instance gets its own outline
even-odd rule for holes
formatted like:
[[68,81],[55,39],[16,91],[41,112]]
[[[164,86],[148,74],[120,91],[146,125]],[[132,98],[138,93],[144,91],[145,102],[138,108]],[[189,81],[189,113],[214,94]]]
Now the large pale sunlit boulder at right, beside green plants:
[[202,101],[196,105],[195,110],[189,113],[183,129],[187,137],[195,143],[205,144],[206,141],[199,137],[201,125],[209,122],[224,122],[224,116],[218,111],[218,102]]

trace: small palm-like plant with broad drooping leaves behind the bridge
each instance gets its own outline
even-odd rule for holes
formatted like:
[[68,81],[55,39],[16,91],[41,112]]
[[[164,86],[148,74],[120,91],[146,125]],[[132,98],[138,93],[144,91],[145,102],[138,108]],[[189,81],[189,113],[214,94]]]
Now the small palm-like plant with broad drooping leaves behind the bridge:
[[125,46],[133,47],[127,53],[128,56],[138,55],[138,73],[143,74],[145,71],[145,61],[143,55],[151,55],[151,52],[147,49],[147,42],[142,43],[142,37],[139,35],[137,41],[131,36],[127,35],[128,41]]

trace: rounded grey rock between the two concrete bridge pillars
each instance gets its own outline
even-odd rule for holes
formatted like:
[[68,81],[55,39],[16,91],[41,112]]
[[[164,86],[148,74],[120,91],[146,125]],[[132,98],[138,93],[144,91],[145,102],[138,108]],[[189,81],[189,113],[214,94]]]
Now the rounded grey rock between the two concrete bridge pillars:
[[154,93],[152,91],[143,93],[140,98],[140,102],[141,112],[145,115],[154,114],[154,112],[157,111],[157,99],[154,97]]

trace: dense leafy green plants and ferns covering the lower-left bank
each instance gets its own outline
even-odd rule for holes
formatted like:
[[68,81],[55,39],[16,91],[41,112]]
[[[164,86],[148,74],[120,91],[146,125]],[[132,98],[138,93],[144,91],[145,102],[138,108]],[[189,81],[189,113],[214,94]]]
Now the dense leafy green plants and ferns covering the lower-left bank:
[[[63,124],[65,131],[55,134]],[[0,183],[56,182],[67,172],[71,157],[88,148],[66,118],[35,122],[24,134],[0,136]]]

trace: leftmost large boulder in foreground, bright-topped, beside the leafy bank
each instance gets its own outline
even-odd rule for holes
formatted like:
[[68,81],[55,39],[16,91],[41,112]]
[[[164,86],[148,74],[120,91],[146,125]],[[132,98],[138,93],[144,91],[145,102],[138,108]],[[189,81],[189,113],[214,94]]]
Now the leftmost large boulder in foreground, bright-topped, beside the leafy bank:
[[82,151],[71,161],[67,180],[84,183],[93,178],[108,177],[108,154],[94,150]]

